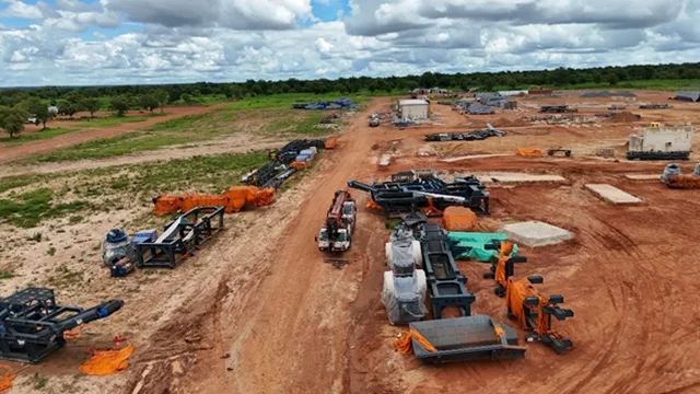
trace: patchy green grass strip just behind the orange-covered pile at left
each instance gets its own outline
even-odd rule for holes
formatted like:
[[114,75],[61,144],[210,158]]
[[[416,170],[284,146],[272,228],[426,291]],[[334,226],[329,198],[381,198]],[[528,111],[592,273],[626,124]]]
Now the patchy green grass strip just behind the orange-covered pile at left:
[[47,219],[80,222],[84,212],[151,207],[160,193],[219,194],[267,162],[266,152],[219,154],[149,165],[0,178],[0,223],[34,228]]

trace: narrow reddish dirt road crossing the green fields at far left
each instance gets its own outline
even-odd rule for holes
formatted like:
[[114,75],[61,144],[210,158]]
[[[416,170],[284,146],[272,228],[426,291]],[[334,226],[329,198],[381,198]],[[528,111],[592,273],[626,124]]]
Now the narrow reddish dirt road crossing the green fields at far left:
[[25,159],[34,154],[49,153],[59,148],[66,148],[82,142],[118,137],[127,132],[149,128],[159,123],[167,121],[178,117],[208,113],[226,104],[221,103],[211,106],[191,107],[165,107],[165,116],[152,117],[143,121],[126,123],[118,126],[105,128],[88,128],[84,130],[56,136],[51,139],[26,142],[18,147],[0,147],[0,164]]

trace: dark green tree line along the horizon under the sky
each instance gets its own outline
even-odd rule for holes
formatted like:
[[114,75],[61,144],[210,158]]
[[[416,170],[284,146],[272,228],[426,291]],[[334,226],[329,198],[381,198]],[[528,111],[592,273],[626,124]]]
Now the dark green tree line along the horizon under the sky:
[[[503,71],[476,73],[424,72],[421,76],[406,77],[352,77],[337,80],[284,81],[247,80],[235,83],[185,83],[165,85],[118,85],[118,86],[45,86],[0,90],[0,128],[13,130],[19,118],[36,115],[38,108],[31,107],[37,100],[58,106],[61,115],[71,116],[86,111],[91,116],[100,109],[113,109],[124,115],[128,109],[143,108],[153,111],[167,103],[196,104],[206,96],[218,95],[228,100],[242,100],[246,96],[280,93],[330,93],[340,94],[370,92],[408,91],[417,88],[447,88],[467,91],[479,88],[492,91],[495,88],[528,89],[530,86],[564,88],[583,83],[615,86],[623,81],[638,80],[677,80],[700,79],[700,63],[648,65],[626,67],[602,67],[587,69],[558,68],[542,71]],[[22,112],[25,113],[22,113]],[[18,115],[18,113],[20,113]],[[43,113],[43,111],[42,111]],[[10,116],[9,114],[12,114]],[[22,115],[22,116],[20,116]],[[50,115],[47,115],[50,116]],[[26,117],[25,117],[26,118]],[[12,125],[8,125],[8,123]],[[10,132],[10,131],[8,131]]]

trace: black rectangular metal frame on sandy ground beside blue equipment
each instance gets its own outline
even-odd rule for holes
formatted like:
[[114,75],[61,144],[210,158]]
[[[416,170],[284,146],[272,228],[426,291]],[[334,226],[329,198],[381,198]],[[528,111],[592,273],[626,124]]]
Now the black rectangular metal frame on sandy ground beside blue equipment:
[[165,224],[155,242],[136,244],[140,268],[175,268],[223,229],[224,207],[197,207]]

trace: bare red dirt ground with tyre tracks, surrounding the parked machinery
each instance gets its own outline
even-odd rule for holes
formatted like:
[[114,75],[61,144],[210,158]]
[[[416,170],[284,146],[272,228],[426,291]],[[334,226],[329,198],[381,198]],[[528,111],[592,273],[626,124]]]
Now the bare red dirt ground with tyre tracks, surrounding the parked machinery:
[[[667,94],[639,93],[640,101],[651,102]],[[611,102],[565,100],[605,103],[600,106]],[[561,99],[536,101],[544,102]],[[375,100],[369,112],[382,112],[388,105],[388,99]],[[417,157],[425,146],[423,134],[464,130],[467,127],[459,125],[466,121],[517,119],[525,111],[465,121],[443,107],[438,112],[444,126],[405,131],[372,129],[359,116],[340,138],[339,148],[322,161],[324,170],[300,192],[303,202],[289,212],[291,220],[281,236],[270,240],[258,233],[237,240],[225,234],[222,242],[232,245],[265,239],[268,251],[250,256],[241,244],[219,255],[230,268],[218,285],[202,285],[201,292],[153,336],[135,360],[129,387],[139,387],[140,393],[699,392],[700,286],[696,277],[700,268],[692,257],[700,230],[695,220],[700,212],[698,192],[670,190],[657,182],[635,183],[622,176],[661,173],[665,163],[585,157],[596,147],[623,144],[630,130],[648,118],[670,123],[697,116],[693,107],[677,105],[681,108],[644,113],[643,120],[632,127],[615,123],[590,128],[528,126],[509,129],[511,135],[501,139],[433,143],[441,157],[512,154],[525,144],[578,148],[573,159],[509,155],[451,164],[439,162],[440,157]],[[378,170],[376,160],[385,152],[394,154],[394,164]],[[349,179],[371,181],[430,165],[463,173],[522,171],[567,177],[562,185],[492,187],[492,215],[481,219],[480,227],[492,231],[504,221],[542,220],[574,233],[574,241],[562,245],[522,248],[529,260],[516,271],[541,274],[541,289],[563,294],[565,308],[574,310],[575,317],[557,324],[575,344],[569,355],[527,344],[524,360],[434,368],[392,350],[393,338],[404,328],[389,326],[380,302],[388,232],[384,219],[364,208],[366,196],[361,192],[353,192],[362,208],[353,247],[345,256],[350,264],[342,269],[324,264],[313,240],[336,189],[346,188]],[[584,188],[590,182],[610,183],[645,202],[608,205]],[[488,266],[465,262],[460,267],[469,278],[468,289],[477,296],[474,313],[505,321],[504,302],[493,294],[493,282],[481,279]],[[153,361],[153,352],[166,360]],[[174,358],[184,373],[173,372],[170,360]]]

